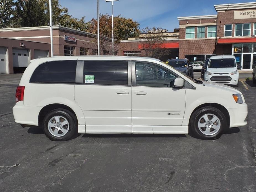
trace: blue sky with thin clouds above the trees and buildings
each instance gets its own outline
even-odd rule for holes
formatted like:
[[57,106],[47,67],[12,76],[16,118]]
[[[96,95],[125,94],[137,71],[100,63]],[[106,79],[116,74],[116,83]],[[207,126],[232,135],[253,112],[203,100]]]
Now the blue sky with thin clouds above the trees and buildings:
[[[97,0],[59,0],[73,17],[97,18]],[[179,27],[177,17],[217,14],[214,5],[252,1],[239,0],[119,0],[114,2],[114,15],[132,18],[140,28],[162,27],[173,31]],[[100,0],[100,13],[111,14],[111,2]]]

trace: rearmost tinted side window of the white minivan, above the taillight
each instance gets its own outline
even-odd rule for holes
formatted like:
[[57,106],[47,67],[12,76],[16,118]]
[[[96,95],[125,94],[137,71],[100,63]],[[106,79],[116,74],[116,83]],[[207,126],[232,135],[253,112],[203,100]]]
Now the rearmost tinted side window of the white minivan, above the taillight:
[[75,83],[76,60],[49,61],[33,72],[30,83]]

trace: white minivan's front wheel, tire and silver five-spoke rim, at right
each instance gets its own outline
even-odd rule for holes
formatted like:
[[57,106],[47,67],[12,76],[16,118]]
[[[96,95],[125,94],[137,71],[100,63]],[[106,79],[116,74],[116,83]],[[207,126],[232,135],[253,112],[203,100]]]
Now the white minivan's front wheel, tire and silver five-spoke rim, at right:
[[226,129],[226,117],[215,107],[199,108],[190,118],[190,131],[200,139],[217,139]]

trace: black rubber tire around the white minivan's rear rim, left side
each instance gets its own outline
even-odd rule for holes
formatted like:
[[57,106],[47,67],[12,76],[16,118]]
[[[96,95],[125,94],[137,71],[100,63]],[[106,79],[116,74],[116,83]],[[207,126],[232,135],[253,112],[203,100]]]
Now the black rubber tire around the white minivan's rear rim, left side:
[[[64,136],[58,137],[54,136],[50,133],[48,130],[48,121],[53,118],[54,116],[63,116],[66,118],[66,120],[69,123],[69,130],[68,133],[66,133]],[[45,118],[43,119],[43,132],[45,135],[52,141],[67,141],[69,139],[72,139],[74,136],[78,134],[78,126],[77,126],[77,120],[73,113],[71,113],[69,110],[66,109],[55,109],[50,111],[45,115]],[[61,133],[61,132],[60,132]]]

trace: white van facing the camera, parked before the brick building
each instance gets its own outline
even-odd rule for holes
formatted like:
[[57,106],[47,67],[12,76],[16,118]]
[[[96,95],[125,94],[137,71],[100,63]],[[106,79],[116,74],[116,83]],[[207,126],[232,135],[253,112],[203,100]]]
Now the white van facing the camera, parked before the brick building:
[[238,69],[241,69],[241,66],[237,66],[235,56],[211,56],[205,72],[205,81],[238,87]]

